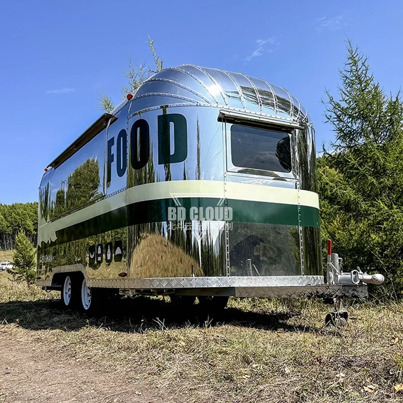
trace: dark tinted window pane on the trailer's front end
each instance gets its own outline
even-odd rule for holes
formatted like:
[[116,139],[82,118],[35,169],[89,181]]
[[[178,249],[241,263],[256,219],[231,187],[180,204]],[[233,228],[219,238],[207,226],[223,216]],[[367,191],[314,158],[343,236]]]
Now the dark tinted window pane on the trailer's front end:
[[291,142],[288,133],[233,124],[232,163],[237,167],[291,172]]

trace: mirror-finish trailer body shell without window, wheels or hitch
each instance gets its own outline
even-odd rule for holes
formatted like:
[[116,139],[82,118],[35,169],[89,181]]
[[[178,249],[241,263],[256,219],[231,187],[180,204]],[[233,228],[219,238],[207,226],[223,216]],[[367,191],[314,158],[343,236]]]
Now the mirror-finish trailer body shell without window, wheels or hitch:
[[[295,123],[291,172],[233,166],[232,123],[220,121],[222,108]],[[316,192],[314,131],[285,89],[184,65],[154,75],[113,115],[113,123],[43,177],[38,277],[77,264],[90,279],[321,275],[317,209],[300,201],[303,191]],[[147,122],[148,135],[139,121]],[[186,142],[175,143],[184,127]],[[148,158],[139,154],[142,142]],[[270,190],[274,201],[257,187]],[[277,200],[280,192],[287,200]],[[176,207],[231,208],[233,219],[171,221],[167,211]]]

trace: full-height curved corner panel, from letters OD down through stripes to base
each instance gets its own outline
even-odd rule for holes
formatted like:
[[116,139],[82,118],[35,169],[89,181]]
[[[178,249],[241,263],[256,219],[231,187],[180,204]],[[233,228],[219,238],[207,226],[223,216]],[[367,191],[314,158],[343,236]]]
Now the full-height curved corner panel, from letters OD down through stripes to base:
[[[136,105],[132,103],[128,122],[129,278],[226,275],[224,223],[189,216],[190,208],[214,207],[224,195],[219,110],[163,107],[137,114]],[[221,184],[210,201],[200,197],[197,182],[186,185],[203,179]],[[151,190],[156,182],[179,182],[183,190],[170,190],[169,184],[165,193]],[[177,207],[185,209],[185,216],[170,219],[168,209],[176,214]]]

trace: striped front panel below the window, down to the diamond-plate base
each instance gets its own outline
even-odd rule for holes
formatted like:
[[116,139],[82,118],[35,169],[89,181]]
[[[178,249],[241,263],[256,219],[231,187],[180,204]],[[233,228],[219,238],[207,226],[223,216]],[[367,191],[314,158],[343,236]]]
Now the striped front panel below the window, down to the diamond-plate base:
[[[236,189],[250,187],[241,199]],[[231,276],[301,275],[298,190],[295,183],[228,173],[226,202]],[[235,190],[235,191],[234,191]]]

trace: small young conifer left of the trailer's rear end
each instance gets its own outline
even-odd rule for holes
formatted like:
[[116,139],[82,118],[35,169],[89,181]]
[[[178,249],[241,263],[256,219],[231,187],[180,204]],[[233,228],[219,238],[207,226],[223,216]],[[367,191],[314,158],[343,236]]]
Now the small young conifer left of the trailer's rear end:
[[28,286],[35,282],[35,248],[23,231],[16,238],[16,247],[13,255],[13,268],[9,273],[15,281],[27,282]]

